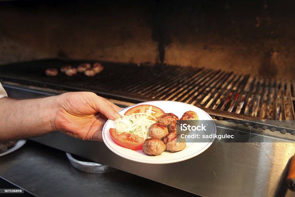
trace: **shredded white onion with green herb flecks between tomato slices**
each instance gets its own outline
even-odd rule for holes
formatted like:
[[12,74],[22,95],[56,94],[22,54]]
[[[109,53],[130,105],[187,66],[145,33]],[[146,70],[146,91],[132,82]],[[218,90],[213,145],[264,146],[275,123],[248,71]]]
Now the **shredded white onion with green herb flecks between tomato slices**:
[[[157,118],[153,115],[152,106],[146,111],[146,113],[134,113],[132,115],[123,115],[122,118],[115,120],[117,131],[119,133],[128,132],[134,133],[143,139],[148,138],[148,128],[155,122]],[[148,118],[153,118],[150,120]]]

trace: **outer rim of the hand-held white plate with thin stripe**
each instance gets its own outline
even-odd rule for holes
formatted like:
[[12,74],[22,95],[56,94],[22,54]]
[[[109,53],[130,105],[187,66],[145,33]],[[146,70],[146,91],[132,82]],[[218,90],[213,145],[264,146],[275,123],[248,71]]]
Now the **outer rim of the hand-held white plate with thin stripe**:
[[[196,107],[198,108],[197,106],[195,105],[191,105],[191,104],[188,104],[188,103],[184,103],[184,102],[179,102],[179,101],[170,101],[170,100],[155,100],[155,101],[146,101],[146,102],[141,102],[141,103],[137,103],[137,104],[134,104],[134,105],[130,105],[122,110],[125,110],[127,108],[131,108],[131,107],[134,107],[136,105],[142,105],[144,103],[151,103],[151,102],[177,102],[177,103],[181,103],[181,104],[186,104],[186,105],[190,105],[192,107]],[[207,113],[205,112],[204,110],[202,110],[201,108],[198,108],[199,110],[203,111],[206,115],[208,115],[208,117],[213,121],[213,118]],[[118,111],[121,112],[122,110]],[[121,152],[117,151],[116,149],[114,149],[109,143],[108,141],[106,140],[106,137],[105,137],[105,128],[106,128],[106,125],[107,123],[111,121],[111,120],[107,120],[106,123],[104,124],[104,127],[102,128],[102,139],[104,141],[104,144],[108,147],[108,149],[110,149],[113,153],[119,155],[120,157],[123,157],[124,159],[129,159],[129,160],[132,160],[132,161],[135,161],[135,162],[140,162],[140,163],[147,163],[147,164],[169,164],[169,163],[176,163],[176,162],[181,162],[181,161],[185,161],[187,159],[191,159],[199,154],[201,154],[202,152],[204,152],[205,150],[207,150],[213,143],[214,141],[214,138],[212,138],[208,143],[207,142],[200,142],[200,143],[207,143],[201,150],[199,150],[198,152],[194,152],[193,154],[190,154],[190,155],[187,155],[185,157],[180,157],[180,158],[177,158],[177,159],[171,159],[171,160],[166,160],[166,161],[149,161],[149,160],[142,160],[142,159],[136,159],[136,158],[133,158],[133,157],[129,157],[128,155],[125,155],[125,154],[122,154]],[[214,125],[215,125],[215,122],[213,121]],[[216,126],[214,126],[214,133],[216,133]],[[118,145],[119,146],[119,145]]]

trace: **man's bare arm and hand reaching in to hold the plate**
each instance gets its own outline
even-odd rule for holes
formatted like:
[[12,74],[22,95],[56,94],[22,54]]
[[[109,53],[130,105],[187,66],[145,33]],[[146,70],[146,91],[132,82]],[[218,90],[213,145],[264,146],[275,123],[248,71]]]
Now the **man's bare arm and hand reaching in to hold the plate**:
[[62,131],[70,136],[101,141],[105,121],[118,118],[117,105],[92,92],[14,100],[0,99],[0,141]]

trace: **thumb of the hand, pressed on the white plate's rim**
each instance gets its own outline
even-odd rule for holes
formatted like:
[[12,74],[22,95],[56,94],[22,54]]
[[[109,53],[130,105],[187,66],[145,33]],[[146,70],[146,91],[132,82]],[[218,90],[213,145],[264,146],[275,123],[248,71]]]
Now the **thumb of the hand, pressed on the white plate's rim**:
[[94,100],[91,101],[92,107],[97,111],[105,115],[110,120],[116,120],[118,117],[121,117],[119,113],[109,105],[104,99],[99,96],[94,97]]

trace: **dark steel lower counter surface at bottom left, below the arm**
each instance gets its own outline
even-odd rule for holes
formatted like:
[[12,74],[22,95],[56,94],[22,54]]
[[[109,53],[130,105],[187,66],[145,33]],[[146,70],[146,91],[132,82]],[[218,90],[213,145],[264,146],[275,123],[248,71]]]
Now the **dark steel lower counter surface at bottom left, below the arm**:
[[81,172],[63,151],[32,141],[0,157],[0,176],[35,196],[194,196],[120,170]]

